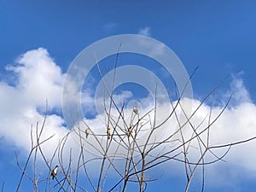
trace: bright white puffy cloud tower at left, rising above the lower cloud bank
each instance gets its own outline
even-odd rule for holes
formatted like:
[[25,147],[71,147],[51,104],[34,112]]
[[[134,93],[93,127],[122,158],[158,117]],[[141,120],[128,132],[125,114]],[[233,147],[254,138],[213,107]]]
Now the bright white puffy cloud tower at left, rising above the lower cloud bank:
[[15,90],[19,96],[32,105],[45,105],[47,99],[50,106],[61,107],[61,90],[63,75],[61,67],[49,57],[46,49],[35,49],[20,55],[16,65],[7,67],[15,73],[17,83]]

